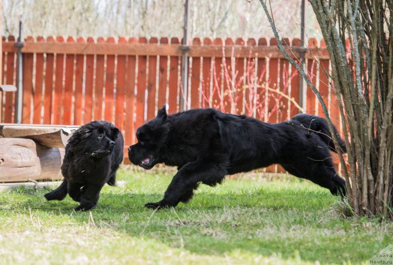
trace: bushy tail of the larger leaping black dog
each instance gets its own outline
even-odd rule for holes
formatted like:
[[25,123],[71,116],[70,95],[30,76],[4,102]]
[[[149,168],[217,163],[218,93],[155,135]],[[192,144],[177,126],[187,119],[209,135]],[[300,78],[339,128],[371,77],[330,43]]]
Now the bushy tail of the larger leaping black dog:
[[[335,144],[332,140],[332,134],[329,131],[328,123],[324,118],[310,115],[310,114],[301,113],[301,114],[297,114],[296,116],[294,116],[292,118],[292,120],[296,120],[296,121],[300,122],[306,130],[310,130],[310,131],[318,134],[318,136],[322,139],[322,141],[324,141],[329,146],[329,148],[332,149],[332,151],[337,153],[337,150],[335,148]],[[336,127],[333,126],[333,128],[334,128],[335,133],[337,135],[337,140],[338,140],[338,144],[341,148],[341,151],[343,153],[346,153],[347,150],[345,147],[345,141],[343,139],[341,139],[341,137],[339,136]]]

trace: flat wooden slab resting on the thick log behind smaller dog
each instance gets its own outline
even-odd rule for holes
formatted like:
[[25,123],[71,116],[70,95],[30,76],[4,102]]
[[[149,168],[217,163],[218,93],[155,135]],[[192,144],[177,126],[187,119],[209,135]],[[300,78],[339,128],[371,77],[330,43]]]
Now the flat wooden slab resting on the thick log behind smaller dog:
[[0,137],[28,138],[46,147],[63,148],[79,126],[0,124]]

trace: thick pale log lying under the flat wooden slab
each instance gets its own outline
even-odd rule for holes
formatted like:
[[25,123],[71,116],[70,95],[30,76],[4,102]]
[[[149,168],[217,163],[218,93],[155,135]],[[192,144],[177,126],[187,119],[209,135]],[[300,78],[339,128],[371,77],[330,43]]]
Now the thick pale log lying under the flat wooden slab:
[[0,182],[59,180],[63,158],[64,148],[25,138],[0,138]]

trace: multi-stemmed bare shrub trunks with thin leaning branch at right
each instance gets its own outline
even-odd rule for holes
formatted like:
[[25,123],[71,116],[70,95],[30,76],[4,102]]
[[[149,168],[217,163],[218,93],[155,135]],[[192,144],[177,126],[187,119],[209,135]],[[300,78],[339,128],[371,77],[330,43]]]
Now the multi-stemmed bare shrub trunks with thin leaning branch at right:
[[[266,1],[259,1],[285,53]],[[347,132],[349,172],[341,154],[339,156],[350,206],[357,215],[392,218],[393,0],[309,2],[330,55],[341,123]],[[284,55],[309,83],[333,132],[319,92],[304,71]],[[338,147],[336,135],[332,135]],[[339,147],[336,149],[340,151]]]

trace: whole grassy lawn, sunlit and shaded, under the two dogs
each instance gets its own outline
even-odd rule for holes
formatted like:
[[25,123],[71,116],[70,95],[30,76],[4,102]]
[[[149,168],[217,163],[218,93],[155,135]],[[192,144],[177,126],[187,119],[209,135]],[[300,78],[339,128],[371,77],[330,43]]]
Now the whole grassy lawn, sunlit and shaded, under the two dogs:
[[[171,175],[122,169],[98,207],[68,196],[0,192],[1,264],[360,264],[389,243],[393,224],[344,217],[339,198],[308,181],[244,176],[201,185],[194,199],[152,211]],[[255,175],[253,175],[255,176]]]

